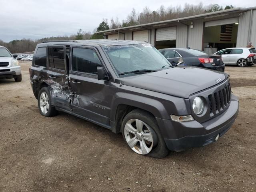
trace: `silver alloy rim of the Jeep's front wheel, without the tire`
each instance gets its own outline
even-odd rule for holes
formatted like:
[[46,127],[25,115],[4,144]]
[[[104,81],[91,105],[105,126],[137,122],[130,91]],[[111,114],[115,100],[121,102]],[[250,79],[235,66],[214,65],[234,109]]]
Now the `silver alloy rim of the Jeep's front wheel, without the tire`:
[[124,127],[124,136],[130,148],[142,155],[148,154],[153,147],[151,128],[141,120],[128,120]]

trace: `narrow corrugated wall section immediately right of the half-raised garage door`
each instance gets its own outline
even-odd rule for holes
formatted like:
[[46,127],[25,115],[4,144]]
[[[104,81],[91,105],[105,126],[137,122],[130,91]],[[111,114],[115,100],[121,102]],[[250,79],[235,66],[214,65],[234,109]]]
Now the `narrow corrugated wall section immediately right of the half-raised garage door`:
[[184,24],[177,25],[176,48],[186,48],[188,38],[188,27]]

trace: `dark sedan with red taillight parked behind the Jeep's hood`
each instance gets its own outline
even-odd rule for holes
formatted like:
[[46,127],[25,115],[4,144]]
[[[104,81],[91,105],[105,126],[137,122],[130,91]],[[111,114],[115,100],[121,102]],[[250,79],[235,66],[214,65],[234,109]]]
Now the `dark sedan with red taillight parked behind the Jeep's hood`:
[[171,64],[183,61],[186,65],[221,72],[224,72],[225,69],[221,55],[209,55],[206,52],[190,48],[166,48],[160,49],[159,51]]

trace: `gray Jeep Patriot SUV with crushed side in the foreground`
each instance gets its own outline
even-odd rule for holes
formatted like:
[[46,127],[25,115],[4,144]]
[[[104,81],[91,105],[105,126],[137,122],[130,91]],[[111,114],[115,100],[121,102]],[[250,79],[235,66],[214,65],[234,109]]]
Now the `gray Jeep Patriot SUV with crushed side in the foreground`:
[[134,152],[156,158],[217,141],[238,115],[228,74],[172,65],[145,42],[44,42],[30,79],[43,116],[64,111],[122,132]]

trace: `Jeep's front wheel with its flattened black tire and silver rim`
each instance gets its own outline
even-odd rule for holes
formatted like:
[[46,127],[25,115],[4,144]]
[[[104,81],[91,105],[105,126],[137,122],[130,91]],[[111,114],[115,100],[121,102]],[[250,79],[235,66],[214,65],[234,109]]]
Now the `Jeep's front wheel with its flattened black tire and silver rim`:
[[144,110],[135,109],[124,117],[122,135],[138,154],[163,158],[169,153],[156,119]]

